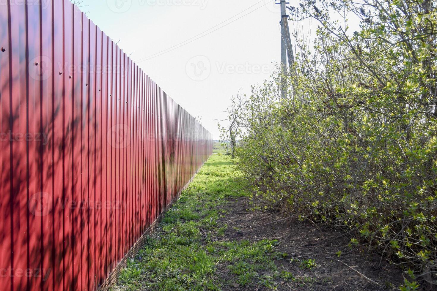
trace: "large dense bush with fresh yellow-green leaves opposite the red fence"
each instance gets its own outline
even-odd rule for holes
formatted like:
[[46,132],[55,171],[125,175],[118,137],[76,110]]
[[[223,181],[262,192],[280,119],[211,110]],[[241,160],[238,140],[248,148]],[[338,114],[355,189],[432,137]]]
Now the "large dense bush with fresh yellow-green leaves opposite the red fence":
[[436,284],[436,2],[305,0],[290,13],[319,21],[314,48],[297,42],[288,98],[279,75],[246,97],[237,169],[272,206]]

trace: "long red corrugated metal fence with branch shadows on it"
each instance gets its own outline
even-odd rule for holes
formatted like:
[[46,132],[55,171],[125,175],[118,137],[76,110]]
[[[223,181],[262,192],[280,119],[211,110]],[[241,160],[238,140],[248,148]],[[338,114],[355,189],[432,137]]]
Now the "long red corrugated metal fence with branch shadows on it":
[[0,286],[96,290],[212,137],[69,0],[0,3]]

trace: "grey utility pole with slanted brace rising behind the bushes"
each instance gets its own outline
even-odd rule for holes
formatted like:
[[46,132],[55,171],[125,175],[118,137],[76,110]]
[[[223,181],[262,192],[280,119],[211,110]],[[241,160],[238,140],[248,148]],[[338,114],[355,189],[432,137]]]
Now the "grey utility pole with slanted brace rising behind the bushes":
[[286,4],[287,0],[279,0],[280,2],[276,4],[281,4],[281,97],[283,99],[287,98],[287,82],[285,80],[285,76],[287,75],[287,58],[288,58],[288,66],[291,67],[295,62],[295,58],[293,55],[293,48],[291,47],[291,38],[290,38],[290,29],[288,28],[288,15]]

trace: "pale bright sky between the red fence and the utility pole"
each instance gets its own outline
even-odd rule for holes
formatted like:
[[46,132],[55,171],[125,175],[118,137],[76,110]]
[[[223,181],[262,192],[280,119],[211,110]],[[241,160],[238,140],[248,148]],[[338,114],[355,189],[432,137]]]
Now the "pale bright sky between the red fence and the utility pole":
[[[249,93],[280,61],[279,6],[274,0],[83,0],[80,9],[120,40],[126,54],[133,51],[144,72],[191,115],[201,116],[218,139],[215,119],[226,118],[231,96],[240,88]],[[187,45],[143,60],[217,24]]]

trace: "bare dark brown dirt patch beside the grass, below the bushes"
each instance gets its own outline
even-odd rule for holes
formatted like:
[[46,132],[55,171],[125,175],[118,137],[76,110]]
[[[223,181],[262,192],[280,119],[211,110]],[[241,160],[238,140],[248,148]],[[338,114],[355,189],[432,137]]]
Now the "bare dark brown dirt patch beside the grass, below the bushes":
[[[351,251],[348,247],[350,238],[343,231],[319,228],[296,219],[284,219],[270,212],[247,212],[247,202],[248,199],[240,198],[222,207],[228,213],[218,222],[226,224],[227,228],[219,240],[277,240],[276,250],[286,253],[286,256],[275,260],[275,264],[298,279],[279,279],[278,290],[392,290],[402,285],[403,275],[399,267],[389,264],[385,259],[381,260],[380,256],[372,255],[368,250]],[[338,251],[342,253],[340,257],[336,254]],[[316,267],[302,270],[299,262],[308,259],[315,260]],[[223,270],[222,276],[231,281],[232,274],[226,268]],[[363,275],[379,286],[366,280]],[[235,286],[235,290],[241,289]],[[245,289],[269,288],[260,285]]]

